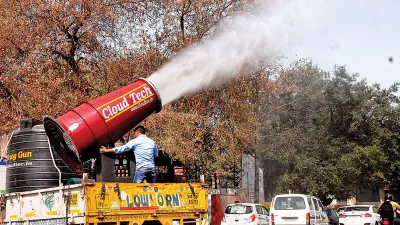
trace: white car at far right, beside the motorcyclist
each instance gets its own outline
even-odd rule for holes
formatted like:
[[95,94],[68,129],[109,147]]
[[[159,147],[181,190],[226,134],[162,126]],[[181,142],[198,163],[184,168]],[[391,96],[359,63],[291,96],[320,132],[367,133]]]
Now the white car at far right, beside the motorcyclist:
[[339,213],[339,225],[378,225],[381,216],[376,213],[376,206],[347,206]]

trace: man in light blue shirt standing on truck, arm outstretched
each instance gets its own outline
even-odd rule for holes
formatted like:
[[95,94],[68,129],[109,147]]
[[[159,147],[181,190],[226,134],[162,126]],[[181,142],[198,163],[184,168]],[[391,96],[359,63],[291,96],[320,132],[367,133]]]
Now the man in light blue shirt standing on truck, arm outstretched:
[[134,183],[142,183],[143,180],[146,180],[148,183],[155,183],[157,178],[154,158],[158,157],[158,148],[156,143],[148,138],[145,133],[146,129],[142,125],[139,125],[134,129],[134,139],[125,145],[115,148],[101,146],[100,148],[100,153],[122,154],[133,151],[136,159]]

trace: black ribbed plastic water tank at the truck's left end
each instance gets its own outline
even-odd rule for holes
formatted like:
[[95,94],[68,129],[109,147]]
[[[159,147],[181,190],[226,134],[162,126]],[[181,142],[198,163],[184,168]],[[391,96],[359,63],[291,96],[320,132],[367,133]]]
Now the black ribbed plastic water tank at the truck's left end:
[[80,177],[49,148],[42,121],[21,120],[20,128],[12,133],[7,148],[7,193],[59,186],[59,172],[54,166],[51,153],[61,172],[63,184],[66,184],[69,178]]

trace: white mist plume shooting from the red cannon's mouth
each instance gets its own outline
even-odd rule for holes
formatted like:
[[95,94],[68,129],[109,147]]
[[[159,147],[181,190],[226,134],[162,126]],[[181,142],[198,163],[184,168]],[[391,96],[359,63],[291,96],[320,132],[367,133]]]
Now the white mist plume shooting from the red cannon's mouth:
[[261,1],[249,12],[223,20],[213,37],[183,50],[148,79],[164,105],[228,81],[245,64],[277,59],[301,43],[324,6],[322,0]]

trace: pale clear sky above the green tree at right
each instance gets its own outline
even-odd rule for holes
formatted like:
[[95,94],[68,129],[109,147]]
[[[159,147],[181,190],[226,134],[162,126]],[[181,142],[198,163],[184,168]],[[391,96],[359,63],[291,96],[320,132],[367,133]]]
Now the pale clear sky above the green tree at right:
[[320,19],[285,53],[286,60],[310,58],[324,70],[345,65],[383,88],[400,82],[400,1],[327,1]]

